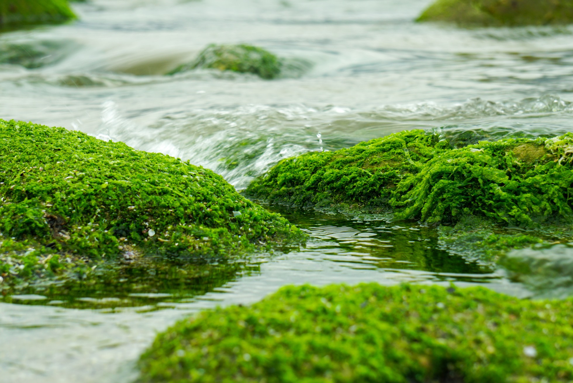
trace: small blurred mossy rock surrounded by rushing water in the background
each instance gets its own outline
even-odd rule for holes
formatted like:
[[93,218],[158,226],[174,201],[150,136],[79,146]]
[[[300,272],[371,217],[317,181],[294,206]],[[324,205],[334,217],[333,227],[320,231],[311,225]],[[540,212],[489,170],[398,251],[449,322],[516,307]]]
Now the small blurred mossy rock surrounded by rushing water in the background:
[[240,73],[253,73],[270,80],[281,72],[281,61],[265,49],[252,45],[215,45],[207,46],[195,61],[180,65],[169,75],[191,69],[219,69]]

